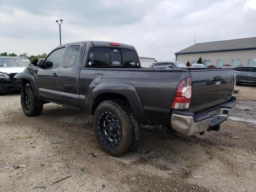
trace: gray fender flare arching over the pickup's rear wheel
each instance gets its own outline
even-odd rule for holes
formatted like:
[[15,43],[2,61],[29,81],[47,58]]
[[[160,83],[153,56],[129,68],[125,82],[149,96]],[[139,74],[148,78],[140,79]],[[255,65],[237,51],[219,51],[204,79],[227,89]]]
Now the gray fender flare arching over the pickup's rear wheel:
[[148,117],[144,112],[136,88],[132,84],[126,82],[103,82],[96,87],[89,89],[86,96],[86,105],[89,107],[91,113],[93,112],[94,101],[100,94],[104,93],[114,93],[125,96],[137,120],[142,124],[149,124]]

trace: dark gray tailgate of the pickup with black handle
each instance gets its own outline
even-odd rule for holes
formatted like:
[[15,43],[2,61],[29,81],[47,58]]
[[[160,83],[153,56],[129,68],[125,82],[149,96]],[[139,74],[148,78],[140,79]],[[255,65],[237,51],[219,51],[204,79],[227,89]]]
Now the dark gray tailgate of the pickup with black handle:
[[192,97],[190,111],[198,112],[231,100],[234,89],[232,69],[190,70]]

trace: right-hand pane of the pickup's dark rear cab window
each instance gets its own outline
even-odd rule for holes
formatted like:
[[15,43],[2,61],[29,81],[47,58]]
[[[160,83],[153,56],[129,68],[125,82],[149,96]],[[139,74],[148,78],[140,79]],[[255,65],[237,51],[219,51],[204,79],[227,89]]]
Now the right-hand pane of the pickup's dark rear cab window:
[[140,66],[138,55],[133,50],[122,49],[122,59],[123,66]]

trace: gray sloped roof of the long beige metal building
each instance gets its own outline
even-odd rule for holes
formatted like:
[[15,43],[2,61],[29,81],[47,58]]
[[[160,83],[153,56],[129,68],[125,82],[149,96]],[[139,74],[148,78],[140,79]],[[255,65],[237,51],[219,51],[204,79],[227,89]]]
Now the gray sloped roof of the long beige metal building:
[[256,37],[197,43],[175,54],[256,49]]

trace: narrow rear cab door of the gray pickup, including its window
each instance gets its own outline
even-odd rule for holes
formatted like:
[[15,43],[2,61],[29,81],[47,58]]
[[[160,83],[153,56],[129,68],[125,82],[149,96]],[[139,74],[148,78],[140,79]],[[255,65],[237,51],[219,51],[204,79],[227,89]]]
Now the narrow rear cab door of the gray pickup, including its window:
[[64,56],[58,76],[60,104],[80,108],[79,104],[79,72],[85,44],[71,44]]

